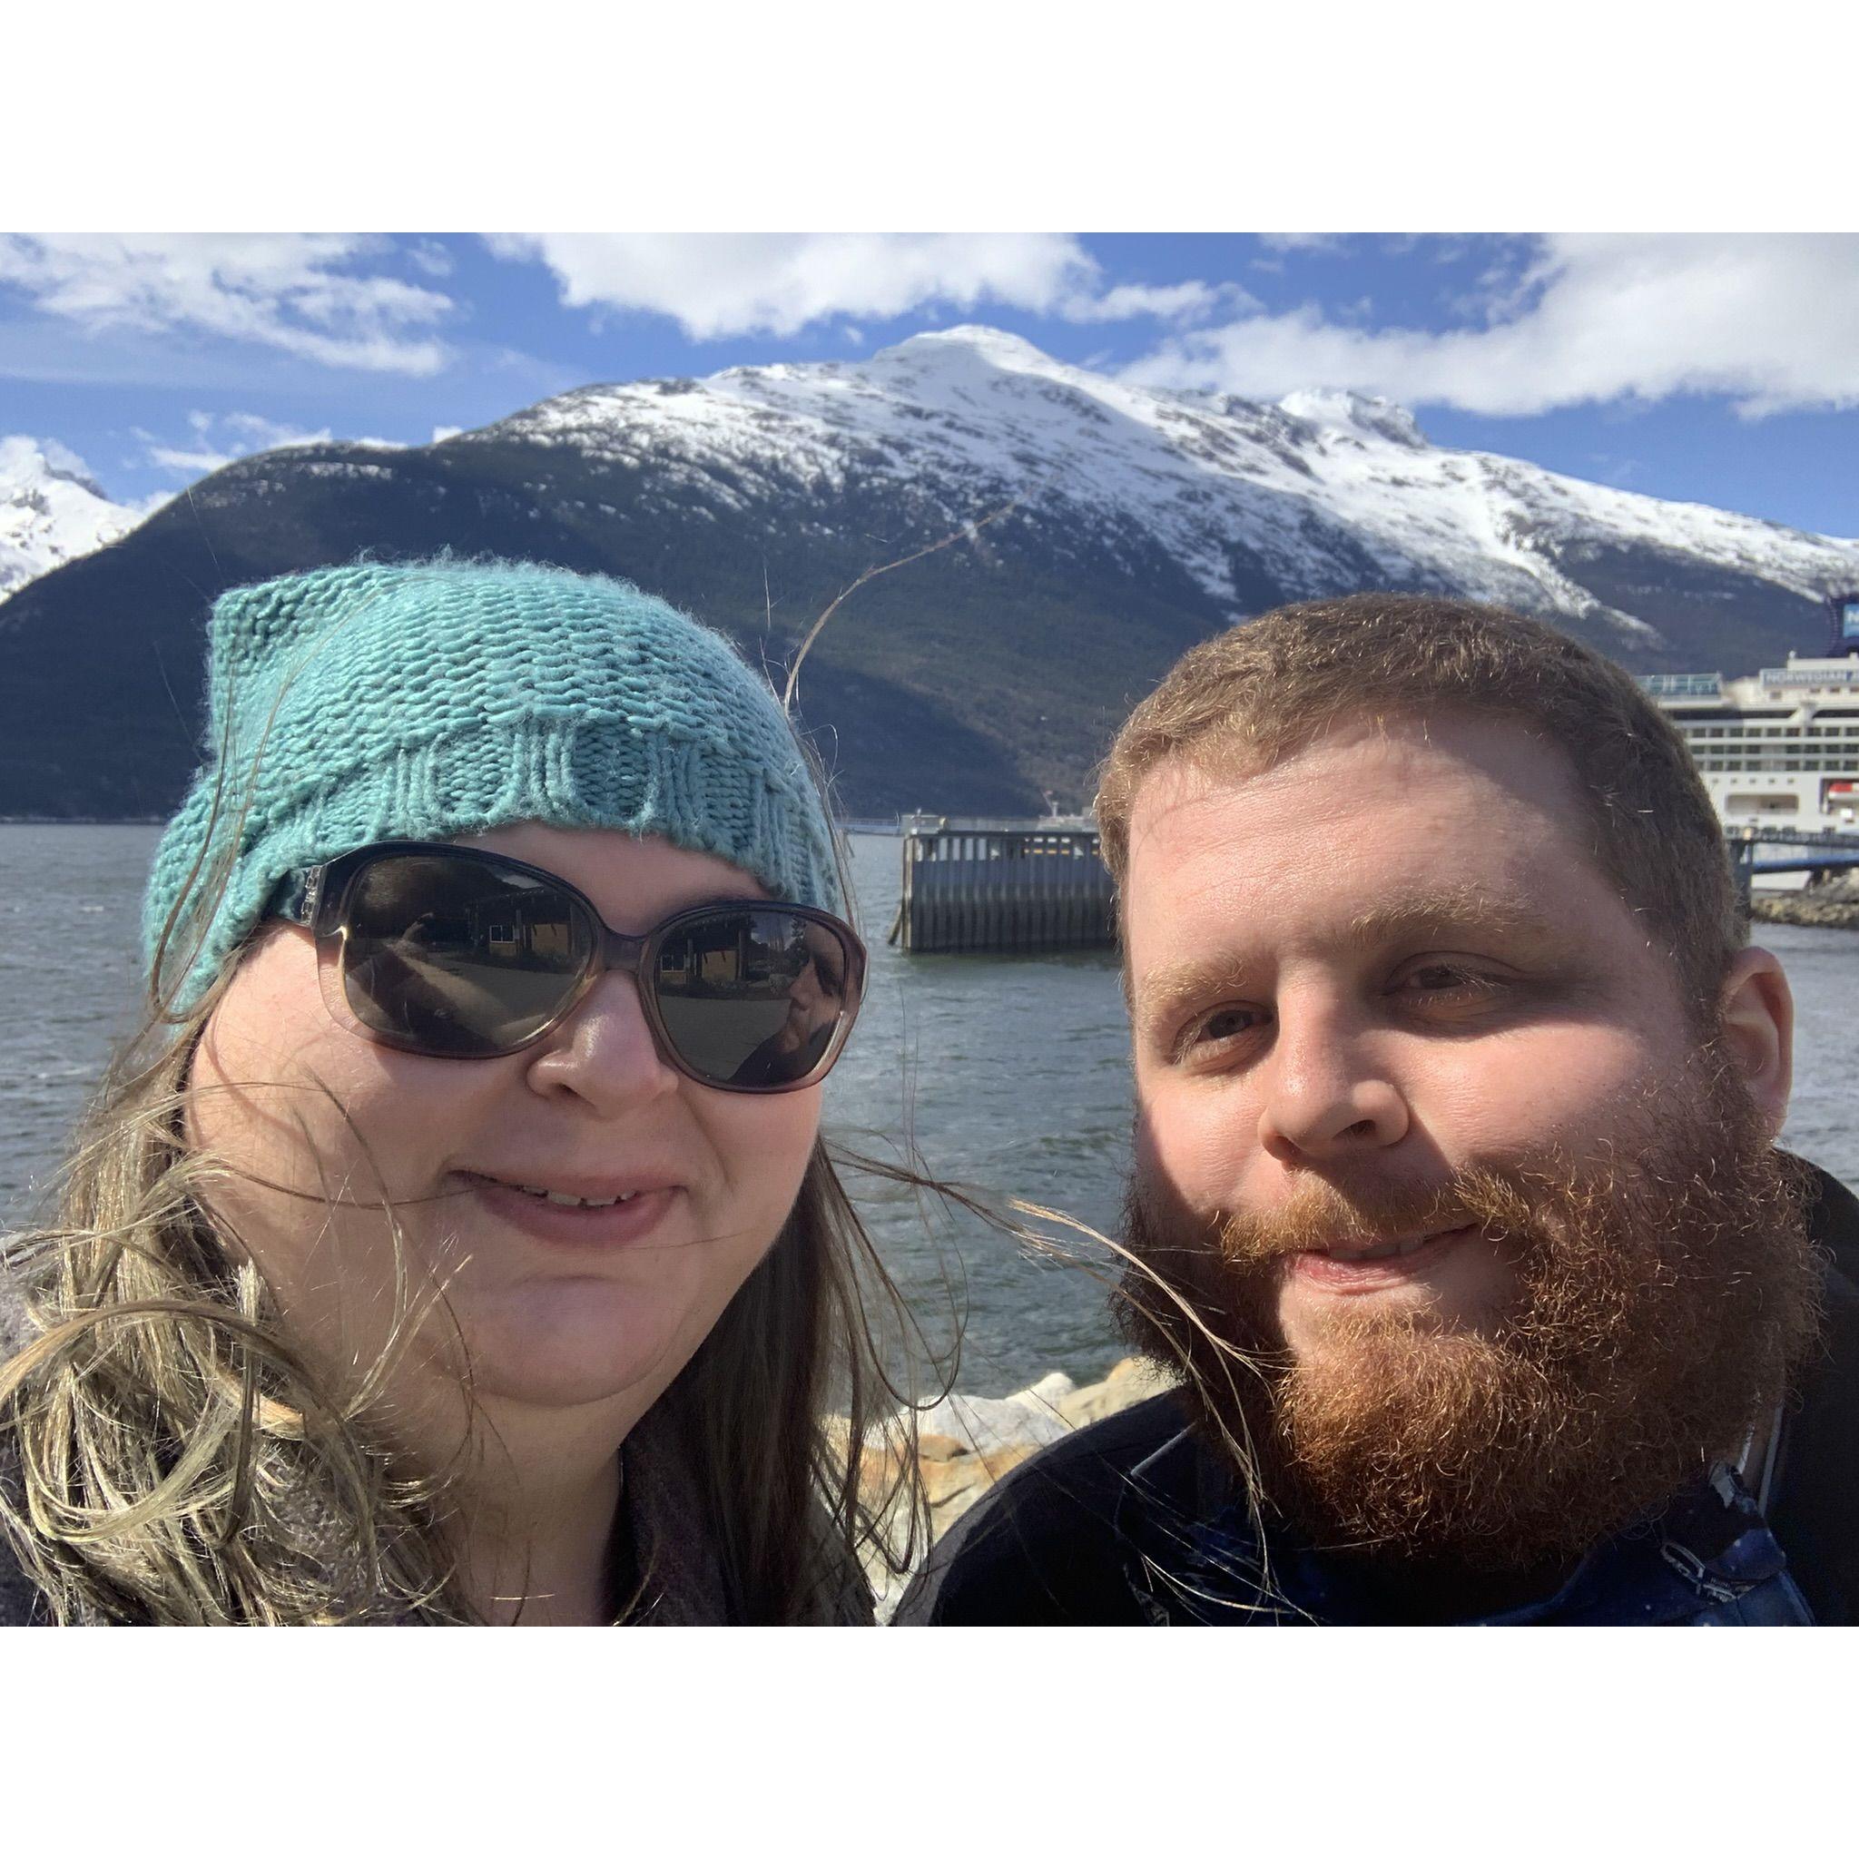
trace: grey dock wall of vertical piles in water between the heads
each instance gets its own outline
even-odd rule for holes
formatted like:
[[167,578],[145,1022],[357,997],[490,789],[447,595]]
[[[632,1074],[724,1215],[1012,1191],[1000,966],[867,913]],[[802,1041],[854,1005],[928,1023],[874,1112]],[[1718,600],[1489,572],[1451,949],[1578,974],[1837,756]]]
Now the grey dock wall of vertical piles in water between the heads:
[[1088,818],[905,814],[890,941],[928,954],[1112,948],[1115,892]]

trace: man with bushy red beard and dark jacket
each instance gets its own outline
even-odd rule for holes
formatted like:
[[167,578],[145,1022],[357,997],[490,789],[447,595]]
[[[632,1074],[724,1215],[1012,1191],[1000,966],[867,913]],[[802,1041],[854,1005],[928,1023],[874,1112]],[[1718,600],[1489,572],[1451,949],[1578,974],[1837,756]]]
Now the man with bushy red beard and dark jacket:
[[1792,1008],[1634,682],[1361,595],[1195,647],[1104,766],[1121,1318],[900,1619],[1859,1619],[1859,1206],[1773,1149]]

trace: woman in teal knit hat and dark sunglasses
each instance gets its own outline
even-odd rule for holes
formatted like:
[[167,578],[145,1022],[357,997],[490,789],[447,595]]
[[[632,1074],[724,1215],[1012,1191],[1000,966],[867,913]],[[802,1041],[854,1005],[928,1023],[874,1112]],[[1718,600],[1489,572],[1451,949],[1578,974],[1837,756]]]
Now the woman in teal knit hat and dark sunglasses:
[[446,560],[225,595],[210,697],[151,1024],[11,1247],[0,1619],[870,1619],[864,950],[768,688]]

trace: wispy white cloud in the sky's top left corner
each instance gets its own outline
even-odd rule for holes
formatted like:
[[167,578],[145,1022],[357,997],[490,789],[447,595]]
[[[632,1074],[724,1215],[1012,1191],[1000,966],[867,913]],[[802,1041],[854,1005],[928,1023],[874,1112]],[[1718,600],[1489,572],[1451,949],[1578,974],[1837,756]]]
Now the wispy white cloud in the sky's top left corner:
[[191,331],[331,368],[435,374],[452,299],[376,268],[390,242],[325,232],[0,234],[0,286],[84,329]]

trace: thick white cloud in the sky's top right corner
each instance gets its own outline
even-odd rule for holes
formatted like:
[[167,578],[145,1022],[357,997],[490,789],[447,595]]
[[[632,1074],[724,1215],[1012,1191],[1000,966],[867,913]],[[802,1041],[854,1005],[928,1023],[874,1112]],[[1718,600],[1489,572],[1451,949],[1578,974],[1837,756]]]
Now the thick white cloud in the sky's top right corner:
[[1859,405],[1859,236],[1554,234],[1483,283],[1476,322],[1368,329],[1316,305],[1184,331],[1132,379],[1277,398],[1355,389],[1530,415],[1727,394],[1740,413]]

